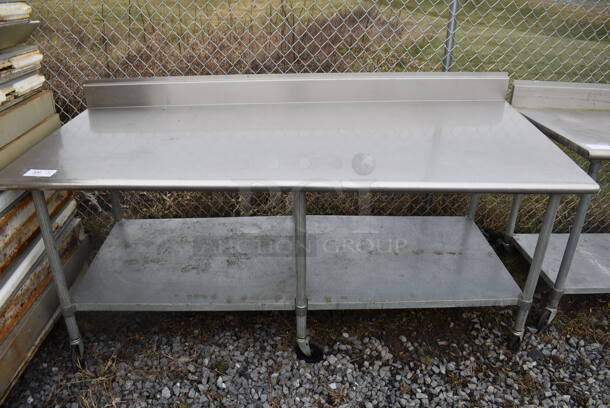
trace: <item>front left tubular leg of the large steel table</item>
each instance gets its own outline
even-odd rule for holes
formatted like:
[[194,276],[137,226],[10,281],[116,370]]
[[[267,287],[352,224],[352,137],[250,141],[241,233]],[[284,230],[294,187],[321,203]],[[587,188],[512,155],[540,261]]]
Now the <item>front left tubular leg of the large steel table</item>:
[[66,322],[68,335],[70,336],[70,346],[72,348],[73,357],[75,358],[75,362],[80,364],[80,359],[82,359],[84,354],[84,344],[80,331],[78,330],[78,325],[76,324],[75,308],[74,304],[72,304],[72,300],[70,299],[70,291],[68,289],[63,266],[61,264],[57,243],[55,242],[53,226],[51,224],[51,218],[49,217],[47,203],[42,191],[32,191],[32,198],[34,200],[34,207],[36,208],[36,214],[38,216],[38,223],[40,224],[40,232],[42,234],[45,252],[49,259],[53,280],[55,281],[55,286],[57,288],[61,312],[64,317],[64,321]]

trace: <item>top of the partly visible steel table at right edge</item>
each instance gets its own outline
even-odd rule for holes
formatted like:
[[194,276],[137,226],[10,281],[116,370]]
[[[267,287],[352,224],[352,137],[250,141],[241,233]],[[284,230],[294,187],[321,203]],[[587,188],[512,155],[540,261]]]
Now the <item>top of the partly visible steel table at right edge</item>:
[[610,159],[610,84],[515,81],[513,105],[588,159]]

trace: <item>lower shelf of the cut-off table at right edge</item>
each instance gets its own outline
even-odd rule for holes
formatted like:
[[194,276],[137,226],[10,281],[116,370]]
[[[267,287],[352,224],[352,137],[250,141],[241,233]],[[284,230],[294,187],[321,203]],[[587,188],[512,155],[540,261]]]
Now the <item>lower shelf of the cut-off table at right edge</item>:
[[[517,248],[530,261],[538,234],[516,234]],[[552,234],[542,264],[542,277],[553,286],[568,234]],[[610,234],[582,234],[565,284],[567,294],[610,293]]]

